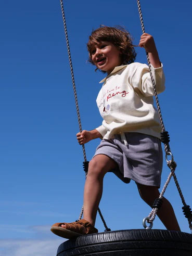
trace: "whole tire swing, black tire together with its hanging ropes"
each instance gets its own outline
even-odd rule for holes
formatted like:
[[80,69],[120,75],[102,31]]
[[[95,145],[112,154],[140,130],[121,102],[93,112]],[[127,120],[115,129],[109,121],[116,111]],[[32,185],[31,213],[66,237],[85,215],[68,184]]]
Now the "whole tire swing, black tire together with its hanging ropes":
[[[70,55],[70,48],[69,48],[69,40],[67,35],[67,27],[66,27],[66,19],[65,19],[65,12],[63,9],[62,0],[60,0],[61,4],[61,11],[62,11],[62,18],[63,24],[65,28],[65,35],[67,41],[67,49],[69,55],[69,62],[70,62],[70,69],[71,69],[71,76],[72,76],[72,84],[73,84],[73,91],[75,97],[75,105],[76,111],[78,114],[78,122],[80,132],[82,131],[81,127],[81,120],[80,120],[80,113],[78,107],[78,99],[76,95],[75,83],[74,83],[74,75],[73,75],[73,68],[71,62],[71,55]],[[142,24],[142,31],[145,32],[142,11],[140,9],[139,0],[137,0],[138,11],[140,16],[140,22]],[[161,207],[162,204],[162,197],[165,193],[165,190],[173,176],[176,187],[178,189],[178,193],[180,194],[182,203],[183,203],[183,212],[185,217],[188,220],[189,228],[192,231],[192,211],[190,206],[185,203],[182,191],[180,186],[178,185],[177,178],[175,175],[176,163],[174,161],[170,146],[169,146],[169,133],[165,131],[165,127],[162,121],[161,110],[159,106],[159,100],[156,92],[155,81],[152,77],[151,72],[151,65],[149,62],[148,53],[147,60],[148,66],[152,81],[152,86],[155,94],[157,109],[159,113],[159,118],[161,122],[162,132],[161,132],[161,140],[164,144],[165,150],[165,158],[167,161],[167,165],[170,168],[171,172],[168,176],[167,181],[164,184],[164,187],[160,193],[158,199],[155,200],[152,206],[152,210],[149,213],[149,216],[145,217],[143,220],[143,226],[145,229],[129,229],[129,230],[120,230],[120,231],[111,231],[102,216],[100,209],[98,209],[99,215],[101,220],[105,226],[105,232],[103,233],[96,233],[91,235],[79,236],[74,239],[70,239],[66,242],[63,242],[58,250],[57,256],[74,256],[74,255],[86,255],[86,256],[191,256],[192,255],[192,235],[189,233],[179,232],[179,231],[167,231],[164,229],[151,229],[152,223],[155,220],[156,214],[158,209]],[[82,145],[83,148],[83,155],[84,155],[84,162],[83,162],[83,169],[85,171],[85,176],[88,171],[88,161],[86,160],[86,153],[85,147]],[[171,160],[168,160],[168,156],[171,157]],[[81,220],[83,215],[83,207],[81,209],[81,213],[78,220]]]

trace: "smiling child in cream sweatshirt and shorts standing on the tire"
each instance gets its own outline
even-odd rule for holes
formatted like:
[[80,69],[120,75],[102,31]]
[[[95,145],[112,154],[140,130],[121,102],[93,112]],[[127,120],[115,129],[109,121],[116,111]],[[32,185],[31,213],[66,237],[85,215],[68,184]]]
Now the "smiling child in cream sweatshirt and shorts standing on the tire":
[[[144,33],[140,47],[148,52],[157,93],[164,91],[164,74],[153,37]],[[159,197],[162,149],[160,122],[153,107],[153,88],[148,66],[134,62],[130,34],[122,28],[100,27],[87,43],[89,61],[107,73],[97,97],[104,121],[92,131],[77,134],[80,145],[101,138],[89,162],[84,188],[84,219],[56,223],[51,231],[64,238],[97,233],[94,227],[103,191],[104,175],[112,171],[122,181],[134,180],[140,197],[152,207]],[[170,202],[163,198],[158,216],[167,229],[180,231]]]

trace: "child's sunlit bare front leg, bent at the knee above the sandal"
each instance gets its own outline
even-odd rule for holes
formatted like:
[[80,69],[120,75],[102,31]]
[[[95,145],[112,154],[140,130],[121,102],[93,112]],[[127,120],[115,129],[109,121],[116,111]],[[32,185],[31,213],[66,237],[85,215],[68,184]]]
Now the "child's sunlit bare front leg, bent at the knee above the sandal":
[[[89,162],[84,188],[83,218],[93,226],[103,193],[104,176],[116,167],[117,163],[106,155],[97,155]],[[61,226],[65,227],[65,225]]]

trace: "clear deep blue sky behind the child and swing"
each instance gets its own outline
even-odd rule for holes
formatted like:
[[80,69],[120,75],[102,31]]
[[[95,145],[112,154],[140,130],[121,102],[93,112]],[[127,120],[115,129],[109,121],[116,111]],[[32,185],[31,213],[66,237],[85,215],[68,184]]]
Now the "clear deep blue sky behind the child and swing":
[[[191,206],[191,1],[140,1],[145,29],[154,36],[163,62],[166,90],[159,95],[165,128],[177,162],[176,175]],[[135,1],[64,1],[82,127],[101,118],[95,99],[104,75],[86,62],[86,42],[100,24],[123,25],[134,44],[142,34]],[[49,229],[79,217],[83,203],[82,147],[59,1],[1,3],[1,233],[0,255],[53,256],[63,239]],[[146,63],[136,47],[137,61]],[[88,143],[91,160],[99,143]],[[164,161],[162,186],[169,169]],[[161,188],[162,188],[161,186]],[[183,232],[190,232],[171,180],[165,193]],[[100,203],[112,230],[143,228],[150,208],[134,182],[105,177]],[[97,216],[96,227],[104,231]],[[164,229],[158,220],[153,228]]]

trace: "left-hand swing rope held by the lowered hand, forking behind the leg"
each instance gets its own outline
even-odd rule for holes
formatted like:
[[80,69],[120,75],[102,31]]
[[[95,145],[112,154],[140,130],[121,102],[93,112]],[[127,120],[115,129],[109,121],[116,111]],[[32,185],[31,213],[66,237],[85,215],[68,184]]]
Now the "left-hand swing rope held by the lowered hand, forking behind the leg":
[[[63,2],[62,0],[60,0],[60,4],[61,4],[61,11],[62,11],[62,19],[63,19],[63,25],[64,25],[64,29],[65,29],[65,35],[66,35],[66,43],[67,43],[67,51],[68,51],[68,56],[69,56],[69,65],[70,65],[70,69],[71,69],[71,78],[72,78],[72,84],[73,84],[73,92],[74,92],[74,98],[75,98],[75,106],[76,106],[76,112],[78,114],[78,123],[79,123],[79,130],[80,132],[82,132],[82,126],[81,126],[81,119],[80,119],[80,112],[79,112],[79,104],[78,104],[78,96],[76,94],[76,87],[75,87],[75,82],[74,82],[74,74],[73,74],[73,67],[72,67],[72,60],[71,60],[71,53],[70,53],[70,47],[69,47],[69,39],[68,39],[68,33],[67,33],[67,25],[66,25],[66,18],[65,18],[65,12],[64,12],[64,8],[63,8]],[[88,161],[86,159],[86,153],[85,153],[85,146],[84,144],[82,145],[82,149],[83,149],[83,156],[84,156],[84,162],[83,162],[83,169],[85,171],[85,178],[87,176],[87,171],[88,171]],[[105,226],[105,231],[110,231],[110,228],[107,227],[107,224],[104,220],[103,215],[101,214],[100,209],[98,208],[98,213],[101,217],[101,220],[104,223]],[[79,220],[81,220],[83,215],[83,206],[80,212],[80,216],[79,216]]]

